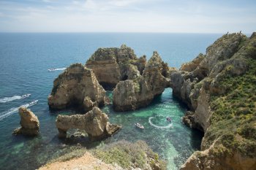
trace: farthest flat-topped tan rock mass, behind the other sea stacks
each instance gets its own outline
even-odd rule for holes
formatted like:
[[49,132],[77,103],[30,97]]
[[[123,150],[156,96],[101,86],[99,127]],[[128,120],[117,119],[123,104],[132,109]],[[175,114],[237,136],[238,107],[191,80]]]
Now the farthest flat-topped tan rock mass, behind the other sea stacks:
[[132,80],[142,74],[146,56],[137,58],[126,45],[120,48],[99,48],[86,62],[104,88],[113,89],[121,80]]

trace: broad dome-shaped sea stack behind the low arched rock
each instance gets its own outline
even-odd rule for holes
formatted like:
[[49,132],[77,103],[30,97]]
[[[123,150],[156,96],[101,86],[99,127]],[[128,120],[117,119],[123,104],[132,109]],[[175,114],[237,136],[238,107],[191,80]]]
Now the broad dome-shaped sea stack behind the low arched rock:
[[92,107],[105,104],[105,94],[92,70],[75,63],[54,80],[48,104],[51,109],[77,106],[89,111]]

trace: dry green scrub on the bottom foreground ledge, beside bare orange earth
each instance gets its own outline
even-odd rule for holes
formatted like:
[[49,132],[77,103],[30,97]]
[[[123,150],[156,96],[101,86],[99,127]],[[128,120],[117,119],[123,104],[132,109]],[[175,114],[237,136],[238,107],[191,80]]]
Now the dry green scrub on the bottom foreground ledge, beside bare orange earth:
[[105,163],[117,163],[124,169],[166,169],[166,163],[159,160],[157,153],[153,152],[146,142],[130,143],[118,141],[94,150],[93,155]]

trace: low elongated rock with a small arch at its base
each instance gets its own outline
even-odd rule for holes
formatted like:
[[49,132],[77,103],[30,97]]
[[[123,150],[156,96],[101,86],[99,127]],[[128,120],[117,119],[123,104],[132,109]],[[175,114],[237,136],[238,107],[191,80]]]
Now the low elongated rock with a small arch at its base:
[[59,130],[59,137],[66,137],[69,128],[78,128],[86,131],[91,140],[111,136],[121,128],[119,125],[110,124],[108,115],[98,107],[94,107],[85,115],[58,115],[56,127]]

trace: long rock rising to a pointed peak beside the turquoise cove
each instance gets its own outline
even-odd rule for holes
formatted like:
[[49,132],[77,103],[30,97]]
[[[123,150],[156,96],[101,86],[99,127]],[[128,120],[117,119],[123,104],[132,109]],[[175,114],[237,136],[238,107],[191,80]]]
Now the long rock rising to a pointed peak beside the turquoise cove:
[[113,107],[116,111],[134,110],[146,107],[154,96],[170,87],[169,67],[157,52],[154,52],[143,74],[134,80],[118,82],[113,90]]

